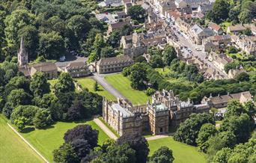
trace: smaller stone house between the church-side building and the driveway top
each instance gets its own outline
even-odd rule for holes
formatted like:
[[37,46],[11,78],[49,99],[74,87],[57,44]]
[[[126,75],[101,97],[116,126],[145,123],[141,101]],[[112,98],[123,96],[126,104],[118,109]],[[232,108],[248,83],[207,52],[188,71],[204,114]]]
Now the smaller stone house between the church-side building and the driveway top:
[[64,72],[70,73],[73,78],[90,76],[91,71],[89,70],[85,62],[71,62],[64,68]]

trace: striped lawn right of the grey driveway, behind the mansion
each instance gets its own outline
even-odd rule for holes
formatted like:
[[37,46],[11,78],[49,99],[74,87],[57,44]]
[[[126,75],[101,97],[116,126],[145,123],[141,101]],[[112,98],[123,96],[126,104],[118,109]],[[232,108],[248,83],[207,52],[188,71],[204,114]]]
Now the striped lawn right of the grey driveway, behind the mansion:
[[146,104],[147,100],[150,99],[143,91],[132,89],[129,79],[124,77],[121,73],[106,76],[105,79],[134,105]]

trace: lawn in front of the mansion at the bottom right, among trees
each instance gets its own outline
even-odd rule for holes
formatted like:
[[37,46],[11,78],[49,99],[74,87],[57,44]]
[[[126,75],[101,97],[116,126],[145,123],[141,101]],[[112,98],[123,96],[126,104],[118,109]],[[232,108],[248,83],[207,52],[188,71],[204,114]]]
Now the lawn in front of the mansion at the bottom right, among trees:
[[204,163],[207,162],[204,158],[204,153],[199,153],[196,147],[182,144],[174,141],[172,137],[161,138],[154,141],[148,141],[150,147],[150,156],[159,147],[166,146],[173,151],[174,162],[176,163]]

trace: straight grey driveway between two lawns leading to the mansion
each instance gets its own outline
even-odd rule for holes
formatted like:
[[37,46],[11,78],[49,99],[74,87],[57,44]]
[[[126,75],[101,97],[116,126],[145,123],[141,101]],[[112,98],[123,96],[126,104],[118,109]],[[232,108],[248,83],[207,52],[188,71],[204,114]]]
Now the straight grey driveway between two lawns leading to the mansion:
[[111,84],[106,82],[104,79],[104,76],[98,73],[94,73],[94,76],[92,78],[96,80],[99,84],[101,84],[109,93],[112,93],[113,96],[119,99],[126,99],[118,90],[115,89]]

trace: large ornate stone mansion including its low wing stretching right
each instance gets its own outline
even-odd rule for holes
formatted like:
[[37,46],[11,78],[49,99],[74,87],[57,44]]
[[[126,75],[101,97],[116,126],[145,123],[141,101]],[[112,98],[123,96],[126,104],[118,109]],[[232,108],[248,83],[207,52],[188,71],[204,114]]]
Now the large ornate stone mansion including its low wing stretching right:
[[177,128],[192,113],[209,112],[212,107],[224,108],[232,99],[247,102],[252,100],[252,95],[243,92],[204,97],[199,105],[193,104],[189,99],[180,100],[179,96],[174,96],[172,90],[157,91],[152,96],[152,102],[148,101],[146,105],[132,105],[127,99],[118,99],[115,102],[104,99],[103,119],[119,135],[131,132],[144,134],[148,131],[159,135]]

